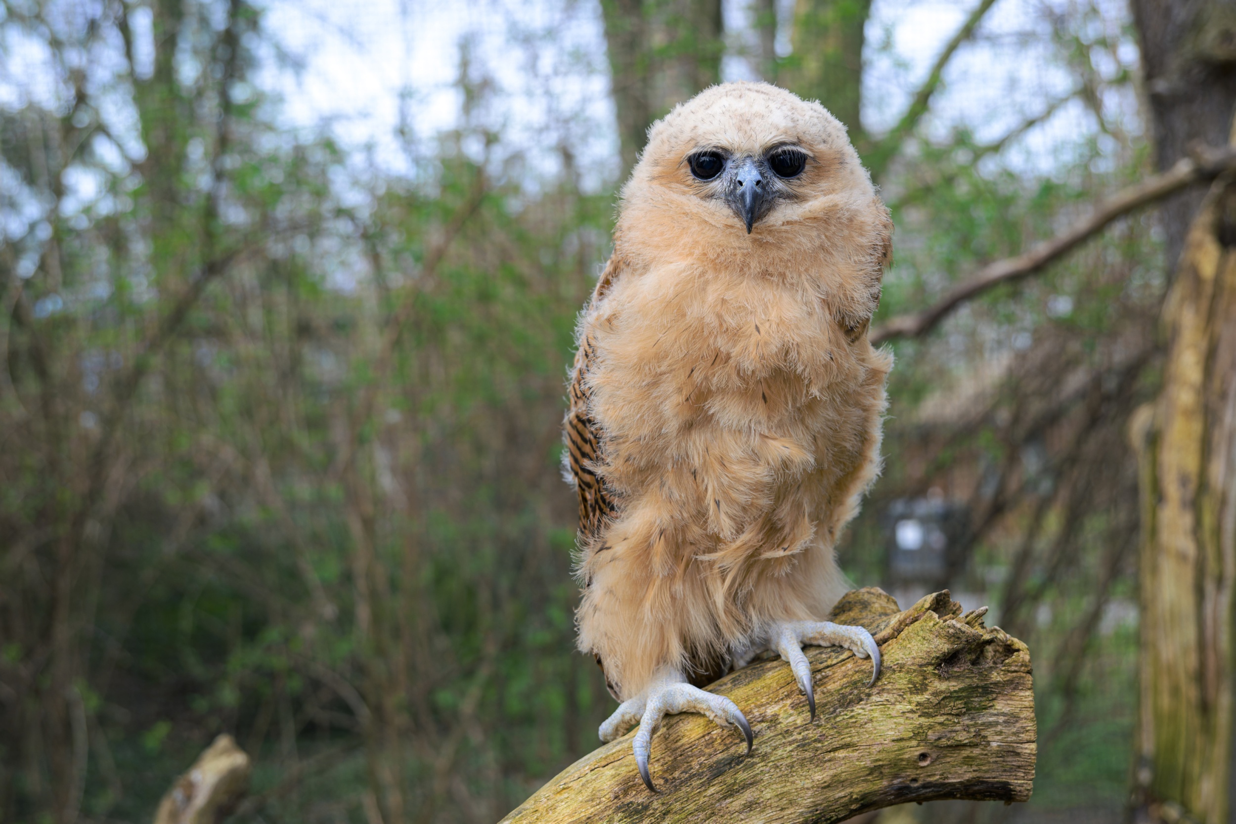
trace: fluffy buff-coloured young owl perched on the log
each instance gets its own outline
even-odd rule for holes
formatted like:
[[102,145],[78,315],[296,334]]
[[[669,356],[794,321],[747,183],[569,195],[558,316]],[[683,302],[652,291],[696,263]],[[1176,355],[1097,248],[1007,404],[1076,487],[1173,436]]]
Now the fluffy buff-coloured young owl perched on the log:
[[700,687],[770,650],[815,719],[803,645],[873,661],[824,621],[838,536],[880,466],[891,356],[868,340],[892,224],[845,127],[764,83],[712,86],[649,130],[613,254],[580,315],[564,432],[578,493],[578,647],[639,724],[751,730]]

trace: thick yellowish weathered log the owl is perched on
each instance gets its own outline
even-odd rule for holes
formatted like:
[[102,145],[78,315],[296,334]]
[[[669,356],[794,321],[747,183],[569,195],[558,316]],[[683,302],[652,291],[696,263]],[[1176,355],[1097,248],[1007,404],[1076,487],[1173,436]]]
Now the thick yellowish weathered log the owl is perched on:
[[700,715],[667,718],[653,739],[648,792],[633,734],[571,765],[502,824],[566,822],[840,822],[911,801],[1026,801],[1035,776],[1030,652],[948,592],[905,612],[884,592],[848,593],[832,620],[875,635],[884,670],[844,650],[808,647],[819,715],[790,668],[763,661],[708,689],[732,698],[755,731],[742,738]]

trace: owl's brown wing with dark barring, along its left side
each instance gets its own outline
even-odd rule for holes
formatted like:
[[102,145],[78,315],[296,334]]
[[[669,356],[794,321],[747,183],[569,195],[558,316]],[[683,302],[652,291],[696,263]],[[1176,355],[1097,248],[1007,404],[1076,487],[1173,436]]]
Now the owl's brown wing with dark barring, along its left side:
[[[622,271],[617,254],[609,258],[597,288],[588,304],[590,313],[606,296],[614,279]],[[588,399],[592,394],[587,383],[588,371],[596,358],[596,345],[587,320],[580,335],[580,348],[575,353],[575,367],[571,371],[571,408],[566,413],[564,430],[566,435],[567,467],[575,478],[575,488],[580,495],[580,531],[588,537],[601,534],[607,518],[617,511],[613,495],[606,489],[593,467],[601,460],[603,432],[588,413]]]

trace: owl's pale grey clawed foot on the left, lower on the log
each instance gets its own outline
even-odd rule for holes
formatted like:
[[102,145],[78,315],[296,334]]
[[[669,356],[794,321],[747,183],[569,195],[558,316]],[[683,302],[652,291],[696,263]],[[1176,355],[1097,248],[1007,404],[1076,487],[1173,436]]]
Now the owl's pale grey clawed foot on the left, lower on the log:
[[632,745],[635,750],[635,766],[639,767],[639,777],[654,793],[658,789],[653,786],[653,780],[648,773],[653,733],[660,725],[662,717],[676,713],[702,713],[721,726],[738,726],[747,736],[747,752],[751,751],[754,740],[751,726],[734,702],[723,696],[692,687],[676,670],[664,671],[653,679],[643,693],[624,700],[613,715],[606,719],[599,730],[602,741],[613,741],[625,735],[632,724],[639,724],[639,731],[635,733],[635,741]]

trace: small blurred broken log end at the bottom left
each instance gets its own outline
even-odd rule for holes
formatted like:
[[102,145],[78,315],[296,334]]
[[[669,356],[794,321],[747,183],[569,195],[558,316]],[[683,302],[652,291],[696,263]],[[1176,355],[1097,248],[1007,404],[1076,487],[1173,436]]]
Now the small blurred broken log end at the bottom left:
[[218,824],[248,792],[248,756],[220,735],[159,802],[154,824]]

